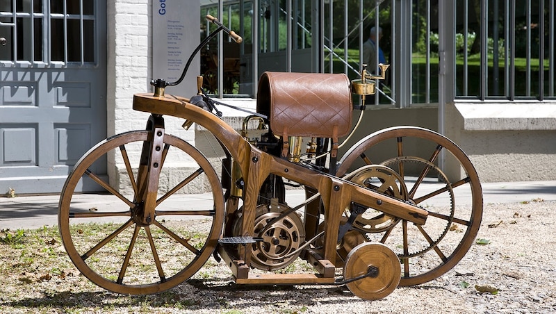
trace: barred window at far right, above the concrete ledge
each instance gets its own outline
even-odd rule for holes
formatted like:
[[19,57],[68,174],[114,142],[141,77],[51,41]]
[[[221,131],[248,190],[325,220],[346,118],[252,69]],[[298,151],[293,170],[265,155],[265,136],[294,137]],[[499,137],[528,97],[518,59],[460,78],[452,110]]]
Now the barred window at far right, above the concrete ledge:
[[555,4],[458,0],[456,97],[555,97]]

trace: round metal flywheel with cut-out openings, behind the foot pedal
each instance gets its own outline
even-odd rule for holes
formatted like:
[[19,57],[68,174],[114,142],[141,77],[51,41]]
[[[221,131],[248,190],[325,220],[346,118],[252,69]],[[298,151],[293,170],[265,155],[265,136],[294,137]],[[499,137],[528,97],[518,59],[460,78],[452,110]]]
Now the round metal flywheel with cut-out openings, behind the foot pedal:
[[[259,204],[256,207],[254,236],[263,240],[257,241],[252,246],[252,267],[267,271],[281,270],[300,255],[300,252],[290,254],[305,242],[305,229],[300,216],[295,212],[280,217],[284,211],[289,209],[291,208],[287,205],[277,202]],[[276,220],[277,218],[278,220]],[[239,234],[239,221],[234,222],[235,235]],[[267,228],[271,221],[272,226]],[[261,233],[261,231],[263,232]]]

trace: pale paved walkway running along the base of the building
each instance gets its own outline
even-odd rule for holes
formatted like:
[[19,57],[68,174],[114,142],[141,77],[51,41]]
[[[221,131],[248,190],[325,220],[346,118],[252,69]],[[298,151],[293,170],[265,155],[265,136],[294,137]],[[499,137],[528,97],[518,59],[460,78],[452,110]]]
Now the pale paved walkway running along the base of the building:
[[[427,183],[430,189],[434,189],[436,184]],[[533,199],[556,201],[556,181],[482,183],[482,189],[485,208],[493,203],[515,203]],[[288,190],[286,199],[298,201],[295,204],[299,204],[304,199],[304,192]],[[466,198],[456,195],[456,201],[462,199]],[[57,225],[58,200],[59,195],[0,197],[0,229],[35,229],[44,225]],[[121,208],[119,204],[122,204],[113,195],[74,195],[74,201],[80,208]],[[202,201],[210,201],[210,195],[179,195],[165,201],[165,206],[166,209],[183,208],[190,204],[198,205]]]

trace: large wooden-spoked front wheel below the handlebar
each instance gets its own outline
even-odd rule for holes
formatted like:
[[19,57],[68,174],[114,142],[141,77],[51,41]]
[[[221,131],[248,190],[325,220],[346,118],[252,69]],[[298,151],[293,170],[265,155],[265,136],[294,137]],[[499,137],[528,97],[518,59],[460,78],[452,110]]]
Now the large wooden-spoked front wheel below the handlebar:
[[[173,288],[193,276],[218,244],[224,217],[218,175],[187,142],[172,135],[164,135],[163,142],[156,216],[149,224],[136,219],[145,185],[136,173],[149,131],[115,135],[90,149],[60,195],[58,226],[67,254],[83,275],[107,290],[136,295]],[[179,164],[172,165],[175,160]],[[106,163],[121,166],[111,174],[119,186],[97,172]],[[83,204],[74,197],[78,185],[96,185],[117,199],[117,206]]]

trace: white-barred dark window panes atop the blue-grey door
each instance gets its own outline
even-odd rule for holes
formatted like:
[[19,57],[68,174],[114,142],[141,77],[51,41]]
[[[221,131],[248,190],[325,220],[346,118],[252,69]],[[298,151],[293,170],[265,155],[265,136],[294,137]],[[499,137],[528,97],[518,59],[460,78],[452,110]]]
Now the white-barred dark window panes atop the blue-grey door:
[[2,62],[95,63],[95,1],[2,1],[0,37]]

